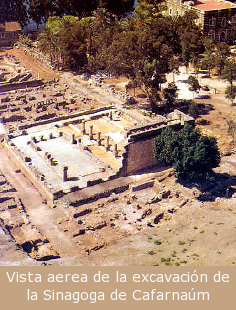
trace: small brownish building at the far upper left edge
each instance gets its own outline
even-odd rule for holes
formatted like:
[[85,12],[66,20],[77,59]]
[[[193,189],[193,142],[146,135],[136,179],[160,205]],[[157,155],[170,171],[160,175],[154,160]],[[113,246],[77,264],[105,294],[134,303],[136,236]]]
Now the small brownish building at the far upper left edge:
[[11,46],[16,43],[21,30],[21,25],[18,22],[0,24],[0,46]]

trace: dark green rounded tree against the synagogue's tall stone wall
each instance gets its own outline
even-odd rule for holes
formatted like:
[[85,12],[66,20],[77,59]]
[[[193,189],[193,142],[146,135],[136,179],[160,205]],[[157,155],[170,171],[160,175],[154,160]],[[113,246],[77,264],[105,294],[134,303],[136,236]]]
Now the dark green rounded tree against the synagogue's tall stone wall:
[[179,179],[204,179],[220,163],[220,153],[214,137],[201,136],[197,129],[186,124],[177,134],[166,127],[154,141],[158,161],[173,165]]

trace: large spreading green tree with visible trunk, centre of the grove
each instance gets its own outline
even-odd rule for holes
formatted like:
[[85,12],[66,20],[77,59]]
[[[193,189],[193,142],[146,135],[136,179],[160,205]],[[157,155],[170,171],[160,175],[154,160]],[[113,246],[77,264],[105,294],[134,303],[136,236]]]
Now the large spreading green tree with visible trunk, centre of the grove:
[[[124,26],[122,26],[124,27]],[[131,27],[131,28],[130,28]],[[91,70],[102,69],[116,76],[128,77],[132,84],[146,94],[154,111],[159,100],[160,85],[169,72],[172,50],[168,46],[162,18],[158,17],[148,27],[128,25],[128,29],[107,26],[97,44],[96,52],[89,58]]]

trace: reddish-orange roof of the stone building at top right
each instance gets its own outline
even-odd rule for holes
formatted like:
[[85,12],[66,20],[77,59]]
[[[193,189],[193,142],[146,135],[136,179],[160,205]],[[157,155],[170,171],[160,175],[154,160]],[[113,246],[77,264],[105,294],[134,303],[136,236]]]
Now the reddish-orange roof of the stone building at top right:
[[216,11],[216,10],[236,8],[236,4],[223,0],[201,0],[198,1],[192,7],[194,7],[195,9],[199,9],[201,11]]

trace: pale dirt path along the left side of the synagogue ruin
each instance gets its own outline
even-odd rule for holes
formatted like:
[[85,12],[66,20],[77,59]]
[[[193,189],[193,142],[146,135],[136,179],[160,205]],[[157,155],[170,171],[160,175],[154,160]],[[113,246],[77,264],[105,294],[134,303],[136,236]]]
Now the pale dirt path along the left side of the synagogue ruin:
[[44,204],[41,195],[22,173],[15,172],[16,169],[17,167],[10,161],[0,145],[0,171],[17,190],[31,223],[51,242],[53,248],[62,257],[78,254],[76,244],[57,226],[58,221],[65,219],[65,214],[60,209],[50,209]]

